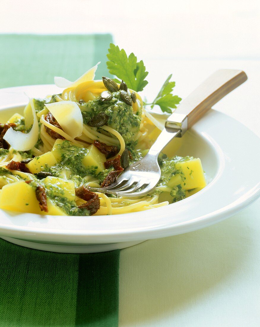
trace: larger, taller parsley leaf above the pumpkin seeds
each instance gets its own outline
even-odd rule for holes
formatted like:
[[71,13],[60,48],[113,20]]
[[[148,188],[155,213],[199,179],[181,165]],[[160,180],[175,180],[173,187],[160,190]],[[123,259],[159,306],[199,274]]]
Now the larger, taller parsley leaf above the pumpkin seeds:
[[[106,56],[109,61],[107,61],[106,64],[109,73],[122,79],[129,89],[136,92],[142,91],[148,84],[145,80],[148,72],[145,71],[143,61],[137,62],[137,58],[133,52],[127,57],[124,49],[120,50],[119,47],[113,43],[110,43],[108,52]],[[115,79],[115,81],[120,83],[118,79]]]

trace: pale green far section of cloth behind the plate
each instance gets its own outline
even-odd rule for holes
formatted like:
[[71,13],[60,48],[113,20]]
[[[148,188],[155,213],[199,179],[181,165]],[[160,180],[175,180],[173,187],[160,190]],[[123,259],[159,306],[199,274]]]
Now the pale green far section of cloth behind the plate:
[[0,88],[53,84],[54,76],[74,81],[101,63],[96,79],[108,76],[106,53],[110,34],[0,34]]

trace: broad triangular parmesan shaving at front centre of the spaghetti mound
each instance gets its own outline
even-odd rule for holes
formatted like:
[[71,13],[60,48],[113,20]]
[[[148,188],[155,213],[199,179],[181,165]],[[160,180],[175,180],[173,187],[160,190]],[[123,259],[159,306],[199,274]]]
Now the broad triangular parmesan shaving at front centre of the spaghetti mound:
[[83,131],[83,117],[79,106],[74,101],[46,103],[46,108],[53,114],[61,128],[75,139]]

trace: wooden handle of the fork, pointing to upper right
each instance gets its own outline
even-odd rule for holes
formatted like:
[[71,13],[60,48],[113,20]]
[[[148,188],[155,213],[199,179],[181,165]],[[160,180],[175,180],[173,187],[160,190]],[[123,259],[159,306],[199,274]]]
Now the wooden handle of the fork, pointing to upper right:
[[[168,118],[166,128],[189,129],[215,103],[247,80],[242,70],[220,69],[198,86]],[[186,128],[184,125],[186,123]]]

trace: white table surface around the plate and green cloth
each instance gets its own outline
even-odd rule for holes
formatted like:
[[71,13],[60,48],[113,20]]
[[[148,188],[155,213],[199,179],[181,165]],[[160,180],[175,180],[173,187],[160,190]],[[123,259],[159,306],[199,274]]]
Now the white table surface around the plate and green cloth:
[[[214,109],[260,136],[259,12],[256,0],[4,0],[0,32],[110,32],[144,60],[148,98],[170,73],[184,98],[216,69],[242,69],[248,81]],[[122,250],[119,325],[260,326],[259,211],[258,200],[217,225]]]

